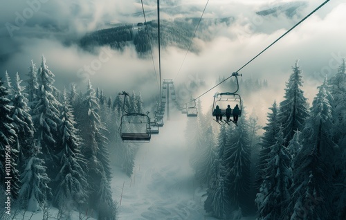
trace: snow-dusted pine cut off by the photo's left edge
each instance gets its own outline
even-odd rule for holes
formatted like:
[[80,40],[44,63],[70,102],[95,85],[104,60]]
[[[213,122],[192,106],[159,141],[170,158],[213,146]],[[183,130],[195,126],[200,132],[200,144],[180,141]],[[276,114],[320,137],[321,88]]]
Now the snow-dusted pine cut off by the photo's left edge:
[[8,89],[3,86],[0,79],[0,185],[3,189],[7,189],[5,177],[11,177],[10,193],[13,199],[17,199],[20,182],[16,163],[18,151],[14,147],[17,134],[12,125],[13,120],[10,118],[12,108],[8,99]]

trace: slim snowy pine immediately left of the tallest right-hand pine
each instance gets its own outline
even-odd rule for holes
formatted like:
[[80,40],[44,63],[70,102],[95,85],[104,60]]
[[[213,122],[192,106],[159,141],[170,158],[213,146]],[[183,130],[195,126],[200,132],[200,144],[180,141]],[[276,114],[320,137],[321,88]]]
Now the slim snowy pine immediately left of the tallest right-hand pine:
[[279,131],[280,124],[277,122],[277,113],[278,113],[278,107],[276,104],[276,101],[273,102],[272,106],[269,108],[271,112],[268,112],[266,126],[263,127],[264,134],[261,138],[261,149],[260,149],[260,156],[258,158],[258,165],[257,165],[257,178],[255,181],[255,187],[257,189],[260,189],[260,185],[262,184],[264,180],[264,174],[266,169],[266,163],[269,159],[269,153],[271,152],[271,146],[275,145],[275,137],[277,135],[277,132]]

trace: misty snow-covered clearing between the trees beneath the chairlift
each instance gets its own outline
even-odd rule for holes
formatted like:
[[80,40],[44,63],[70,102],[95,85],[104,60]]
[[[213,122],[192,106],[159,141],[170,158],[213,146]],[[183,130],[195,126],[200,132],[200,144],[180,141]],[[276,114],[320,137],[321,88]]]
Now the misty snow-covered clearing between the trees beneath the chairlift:
[[215,219],[203,210],[205,191],[194,181],[185,127],[185,120],[166,121],[160,134],[140,147],[131,178],[114,168],[112,190],[120,220]]

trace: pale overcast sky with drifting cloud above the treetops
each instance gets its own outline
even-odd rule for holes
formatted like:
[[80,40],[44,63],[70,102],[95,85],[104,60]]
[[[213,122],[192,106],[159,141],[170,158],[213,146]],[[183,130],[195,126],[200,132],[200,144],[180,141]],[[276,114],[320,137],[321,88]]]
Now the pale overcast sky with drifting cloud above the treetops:
[[[143,2],[148,12],[147,19],[156,19],[156,1]],[[177,48],[161,51],[163,78],[173,78],[176,82],[198,78],[206,81],[208,89],[215,85],[219,75],[227,77],[237,71],[323,1],[300,1],[305,4],[293,18],[284,15],[260,17],[255,14],[287,2],[295,1],[210,1],[203,17],[235,17],[235,23],[228,27],[210,27],[215,33],[211,42],[195,39],[194,44],[199,45],[201,52],[198,55],[188,53],[180,72],[186,51]],[[164,1],[161,8],[182,6],[182,12],[174,17],[200,17],[205,5],[206,1],[201,0]],[[190,8],[198,10],[190,11]],[[93,75],[87,76],[94,87],[103,88],[108,95],[122,90],[145,91],[146,88],[157,91],[153,90],[156,82],[150,77],[154,75],[152,59],[139,59],[134,48],[127,48],[122,53],[100,48],[99,54],[91,54],[75,44],[66,44],[89,31],[104,28],[105,24],[141,22],[143,17],[136,15],[141,10],[140,1],[129,0],[0,0],[0,76],[7,70],[10,75],[18,71],[25,78],[30,59],[39,66],[44,54],[48,67],[55,74],[55,86],[59,89],[70,82],[86,88],[83,82],[86,75],[79,71],[84,66],[101,63]],[[291,66],[296,59],[300,59],[304,90],[311,101],[323,76],[334,74],[340,57],[346,56],[345,11],[345,1],[327,3],[246,66],[241,71],[244,80],[249,77],[268,80],[271,89],[277,91],[275,95],[271,91],[266,94],[268,102],[278,100],[284,93],[284,83],[292,72]],[[164,12],[161,16],[165,19],[172,17]],[[154,62],[157,71],[157,52],[154,53]],[[145,84],[140,85],[140,82]],[[206,96],[208,100],[212,93]],[[266,104],[266,108],[269,106]]]

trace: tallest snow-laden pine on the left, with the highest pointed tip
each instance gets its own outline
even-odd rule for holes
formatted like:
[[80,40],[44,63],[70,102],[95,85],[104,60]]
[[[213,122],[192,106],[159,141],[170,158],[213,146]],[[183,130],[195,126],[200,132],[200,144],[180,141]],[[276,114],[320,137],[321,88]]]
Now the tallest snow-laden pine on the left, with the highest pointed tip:
[[42,55],[42,63],[37,71],[37,80],[39,89],[37,98],[33,104],[33,122],[36,129],[35,138],[37,146],[42,149],[44,161],[48,167],[48,176],[54,178],[57,173],[56,154],[60,152],[57,146],[57,125],[60,124],[60,106],[61,103],[55,97],[57,89],[53,86],[55,80],[54,74],[46,65],[46,57]]

